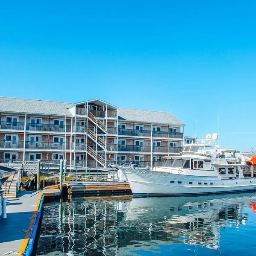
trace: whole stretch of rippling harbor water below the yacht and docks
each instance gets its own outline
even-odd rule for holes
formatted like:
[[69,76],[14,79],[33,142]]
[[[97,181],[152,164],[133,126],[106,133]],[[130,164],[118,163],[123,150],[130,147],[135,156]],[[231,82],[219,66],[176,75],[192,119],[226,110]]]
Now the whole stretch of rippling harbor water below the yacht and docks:
[[256,195],[73,198],[44,206],[38,255],[256,255]]

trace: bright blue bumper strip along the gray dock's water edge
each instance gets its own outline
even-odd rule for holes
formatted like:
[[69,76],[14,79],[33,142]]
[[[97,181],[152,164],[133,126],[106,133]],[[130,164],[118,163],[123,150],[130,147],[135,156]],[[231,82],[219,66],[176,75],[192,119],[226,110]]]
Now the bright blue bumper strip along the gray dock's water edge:
[[42,215],[42,209],[43,209],[43,204],[44,204],[44,195],[42,195],[40,200],[41,201],[40,201],[40,204],[39,204],[39,207],[38,207],[38,212],[36,214],[35,222],[34,222],[34,225],[32,227],[32,232],[31,232],[30,237],[29,237],[29,242],[28,242],[26,250],[23,254],[24,256],[31,256],[32,252],[33,252],[33,248],[34,248],[34,244],[35,244],[35,240],[36,240],[36,235],[37,235],[37,231],[38,231],[38,225],[40,224],[40,218],[41,218],[41,215]]

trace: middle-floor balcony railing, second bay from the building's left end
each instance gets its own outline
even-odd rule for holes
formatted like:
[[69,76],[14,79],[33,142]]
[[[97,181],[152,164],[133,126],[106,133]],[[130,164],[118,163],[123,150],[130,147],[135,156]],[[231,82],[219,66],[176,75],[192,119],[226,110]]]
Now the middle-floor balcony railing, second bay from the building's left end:
[[70,143],[64,142],[34,142],[26,141],[27,149],[49,149],[49,150],[66,150],[70,149]]

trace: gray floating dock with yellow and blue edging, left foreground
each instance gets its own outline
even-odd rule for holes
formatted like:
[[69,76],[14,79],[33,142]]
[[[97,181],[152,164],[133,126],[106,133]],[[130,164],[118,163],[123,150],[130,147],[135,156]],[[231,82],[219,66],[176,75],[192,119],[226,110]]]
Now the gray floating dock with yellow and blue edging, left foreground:
[[32,255],[44,197],[59,196],[59,189],[19,192],[6,204],[7,218],[0,220],[0,255]]

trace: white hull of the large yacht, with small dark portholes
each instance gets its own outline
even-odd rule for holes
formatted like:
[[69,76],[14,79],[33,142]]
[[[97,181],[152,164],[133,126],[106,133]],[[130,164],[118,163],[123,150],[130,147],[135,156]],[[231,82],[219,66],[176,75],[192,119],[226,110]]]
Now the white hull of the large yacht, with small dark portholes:
[[151,170],[120,168],[127,177],[133,195],[184,196],[215,195],[256,191],[256,178],[220,179]]

